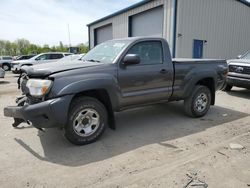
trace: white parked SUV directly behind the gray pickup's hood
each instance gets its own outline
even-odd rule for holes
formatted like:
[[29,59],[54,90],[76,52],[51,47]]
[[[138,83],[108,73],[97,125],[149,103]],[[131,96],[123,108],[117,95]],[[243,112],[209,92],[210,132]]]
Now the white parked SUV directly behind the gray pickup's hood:
[[32,66],[36,64],[42,64],[42,63],[50,63],[54,62],[58,59],[61,59],[65,56],[71,55],[71,53],[64,53],[64,52],[49,52],[49,53],[42,53],[38,54],[30,59],[27,60],[17,60],[13,61],[12,65],[12,72],[14,74],[19,74],[20,69],[22,66]]

